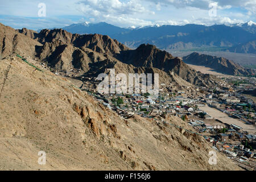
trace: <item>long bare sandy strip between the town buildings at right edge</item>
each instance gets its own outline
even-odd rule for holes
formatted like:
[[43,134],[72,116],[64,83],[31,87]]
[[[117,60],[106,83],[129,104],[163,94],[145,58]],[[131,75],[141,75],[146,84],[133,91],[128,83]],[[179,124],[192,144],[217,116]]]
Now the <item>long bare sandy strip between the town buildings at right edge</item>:
[[205,111],[206,113],[211,115],[213,118],[219,119],[224,123],[228,123],[229,125],[234,124],[234,125],[240,126],[243,128],[243,130],[248,131],[249,133],[256,133],[256,127],[254,127],[253,125],[246,125],[244,122],[242,122],[239,119],[230,118],[228,114],[222,113],[217,109],[214,109],[209,106],[200,106],[199,109]]

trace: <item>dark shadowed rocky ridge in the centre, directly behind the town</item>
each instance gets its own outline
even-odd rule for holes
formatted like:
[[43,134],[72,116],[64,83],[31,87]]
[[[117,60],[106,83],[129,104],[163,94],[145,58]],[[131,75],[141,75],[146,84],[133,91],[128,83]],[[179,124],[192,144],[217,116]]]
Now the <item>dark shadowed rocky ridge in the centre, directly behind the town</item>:
[[142,44],[135,50],[122,51],[117,55],[117,59],[123,63],[132,64],[134,67],[158,68],[169,74],[173,72],[185,81],[195,85],[212,85],[218,80],[214,76],[196,72],[179,57],[174,57],[150,44]]

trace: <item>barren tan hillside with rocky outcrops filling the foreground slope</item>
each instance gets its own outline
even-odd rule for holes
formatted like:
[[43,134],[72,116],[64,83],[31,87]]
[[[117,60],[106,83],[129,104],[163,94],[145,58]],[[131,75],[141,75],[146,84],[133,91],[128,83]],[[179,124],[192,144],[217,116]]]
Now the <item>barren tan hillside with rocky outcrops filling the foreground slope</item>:
[[[120,118],[66,78],[15,55],[0,60],[0,82],[0,169],[240,169],[222,154],[211,166],[203,137],[162,122],[193,130],[180,118]],[[37,162],[41,150],[45,166]]]

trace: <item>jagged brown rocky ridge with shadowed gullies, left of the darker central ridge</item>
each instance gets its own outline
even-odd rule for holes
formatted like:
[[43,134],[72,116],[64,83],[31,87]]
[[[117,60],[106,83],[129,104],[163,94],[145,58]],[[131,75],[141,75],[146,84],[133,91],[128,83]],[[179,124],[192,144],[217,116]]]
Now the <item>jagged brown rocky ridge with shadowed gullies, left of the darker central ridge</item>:
[[43,44],[36,47],[39,60],[59,70],[79,68],[87,72],[89,64],[129,49],[106,35],[71,34],[61,29],[42,30],[35,34],[34,40]]

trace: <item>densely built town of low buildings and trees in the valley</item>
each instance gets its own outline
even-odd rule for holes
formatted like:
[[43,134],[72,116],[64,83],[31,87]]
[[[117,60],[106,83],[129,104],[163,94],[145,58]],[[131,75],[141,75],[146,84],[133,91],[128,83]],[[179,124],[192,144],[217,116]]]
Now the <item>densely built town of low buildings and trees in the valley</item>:
[[160,88],[158,97],[150,94],[100,94],[96,92],[95,86],[88,86],[92,80],[85,81],[84,88],[105,107],[123,118],[134,114],[156,118],[167,113],[180,117],[197,133],[204,135],[215,150],[223,152],[245,168],[255,169],[256,130],[245,131],[240,126],[227,124],[199,109],[203,106],[214,107],[230,118],[256,129],[255,102],[242,94],[246,89],[256,88],[255,78],[248,78],[250,82],[247,80],[247,85],[235,85],[233,78],[226,79],[229,84],[221,88],[191,89],[172,83],[171,86],[164,84],[161,85],[164,88]]

